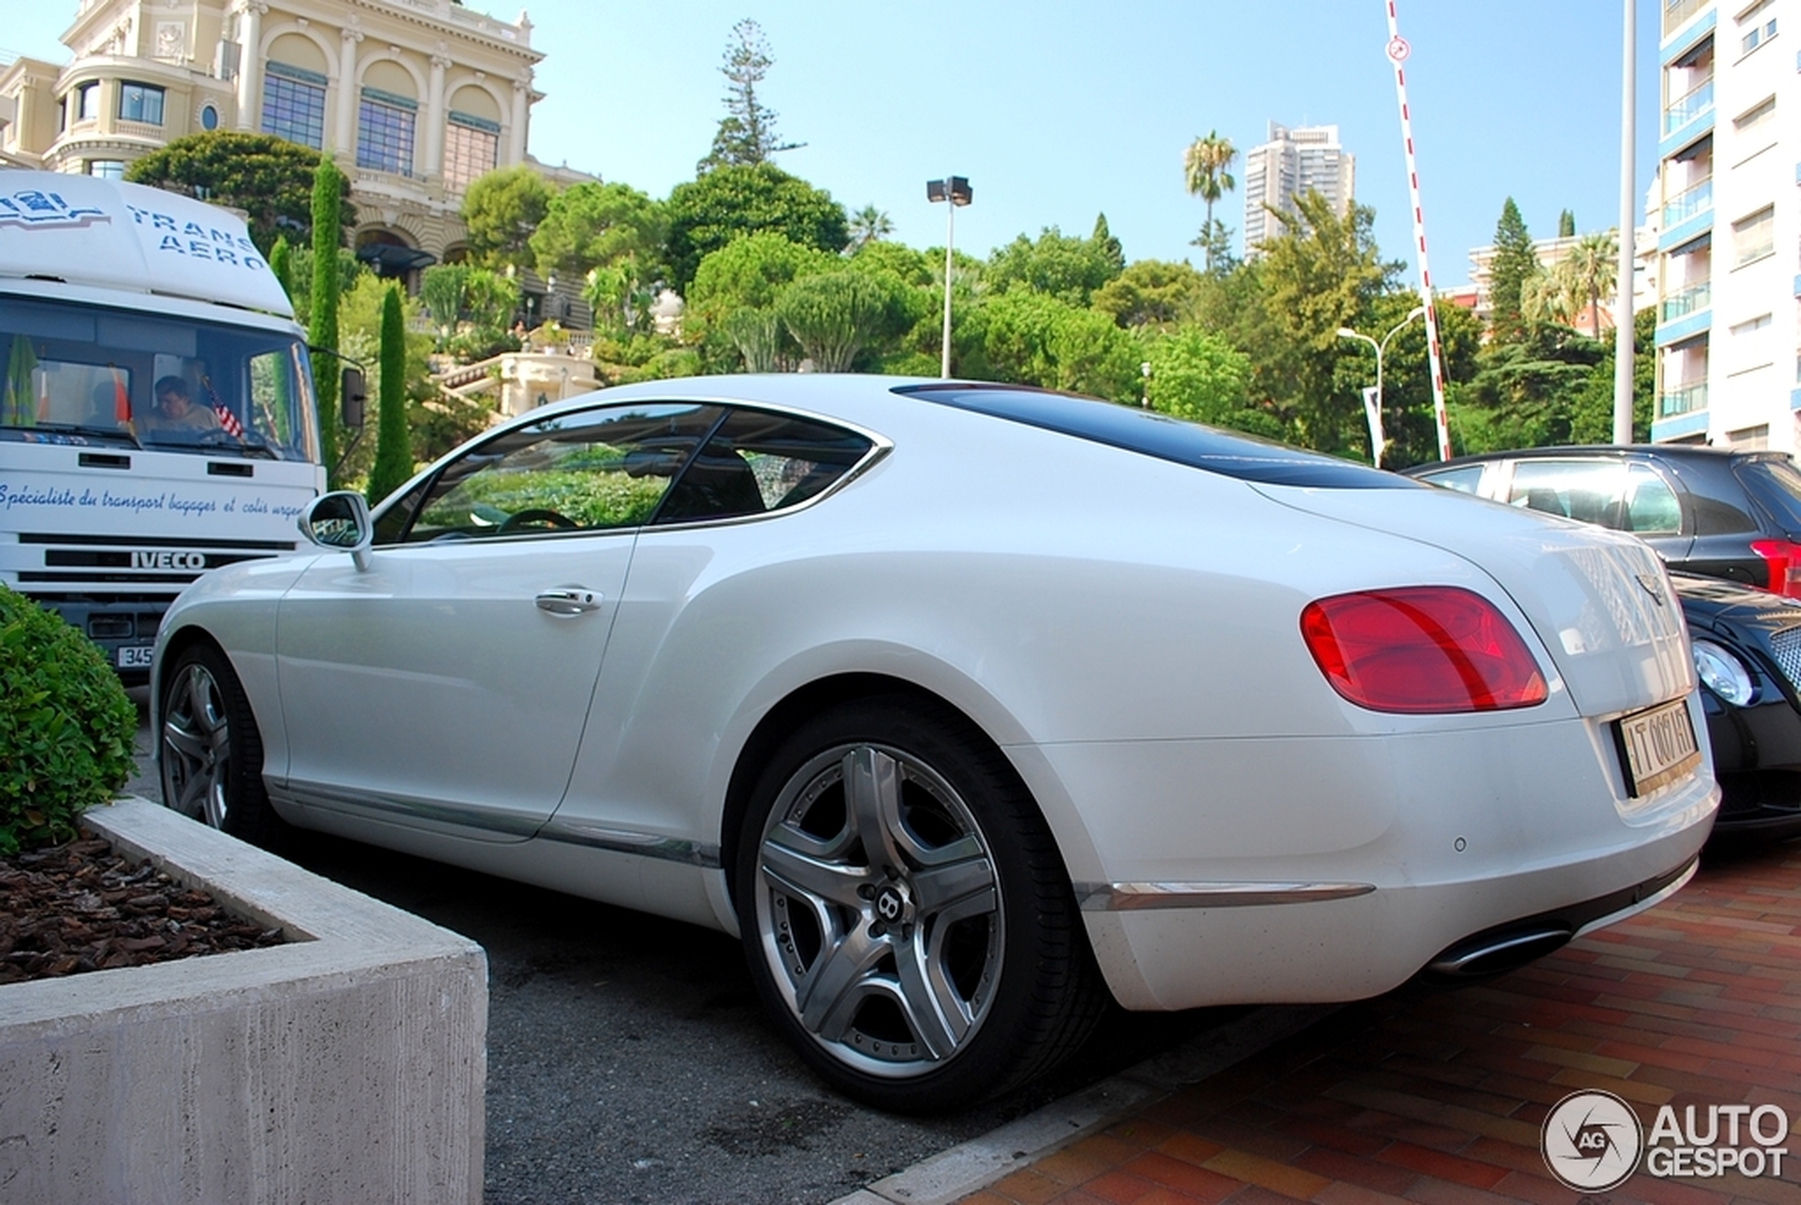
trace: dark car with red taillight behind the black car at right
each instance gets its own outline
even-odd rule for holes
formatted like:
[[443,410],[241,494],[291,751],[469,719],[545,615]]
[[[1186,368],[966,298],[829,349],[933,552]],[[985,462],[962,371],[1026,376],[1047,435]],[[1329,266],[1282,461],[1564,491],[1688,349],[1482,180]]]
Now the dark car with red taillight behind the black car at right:
[[1787,452],[1673,443],[1525,448],[1407,474],[1632,531],[1671,569],[1801,598],[1801,468]]

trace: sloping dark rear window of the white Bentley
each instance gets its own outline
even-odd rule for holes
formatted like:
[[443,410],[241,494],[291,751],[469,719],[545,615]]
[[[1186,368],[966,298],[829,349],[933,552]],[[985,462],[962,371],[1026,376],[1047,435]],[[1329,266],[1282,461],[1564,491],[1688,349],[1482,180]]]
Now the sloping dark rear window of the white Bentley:
[[1023,389],[1019,385],[929,384],[899,385],[895,393],[955,405],[964,411],[1007,418],[1028,427],[1055,430],[1142,456],[1205,468],[1226,477],[1264,485],[1331,490],[1423,490],[1417,481],[1380,468],[1353,465],[1335,456],[1302,452],[1217,427],[1181,421],[1167,414],[1136,411],[1097,398]]

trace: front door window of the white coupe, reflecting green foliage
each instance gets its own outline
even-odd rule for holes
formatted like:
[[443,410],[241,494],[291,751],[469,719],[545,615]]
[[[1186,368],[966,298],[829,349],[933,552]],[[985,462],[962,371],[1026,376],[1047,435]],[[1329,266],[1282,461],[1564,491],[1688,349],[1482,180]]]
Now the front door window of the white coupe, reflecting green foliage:
[[400,539],[643,524],[719,418],[720,407],[713,405],[627,403],[495,436],[445,465]]

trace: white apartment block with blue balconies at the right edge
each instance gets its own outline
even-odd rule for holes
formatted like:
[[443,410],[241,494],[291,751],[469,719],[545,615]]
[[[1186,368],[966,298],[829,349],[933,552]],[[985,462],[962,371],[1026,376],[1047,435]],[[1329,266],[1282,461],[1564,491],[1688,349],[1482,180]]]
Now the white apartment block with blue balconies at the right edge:
[[1801,450],[1796,0],[1666,0],[1652,439]]

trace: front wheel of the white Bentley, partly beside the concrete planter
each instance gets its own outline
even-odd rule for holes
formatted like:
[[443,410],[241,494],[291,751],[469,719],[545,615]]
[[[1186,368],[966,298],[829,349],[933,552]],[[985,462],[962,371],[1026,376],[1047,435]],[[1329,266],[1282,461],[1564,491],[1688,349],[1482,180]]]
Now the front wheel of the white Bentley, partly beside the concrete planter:
[[283,825],[263,793],[263,740],[231,661],[211,645],[193,645],[162,681],[164,803],[270,845]]

